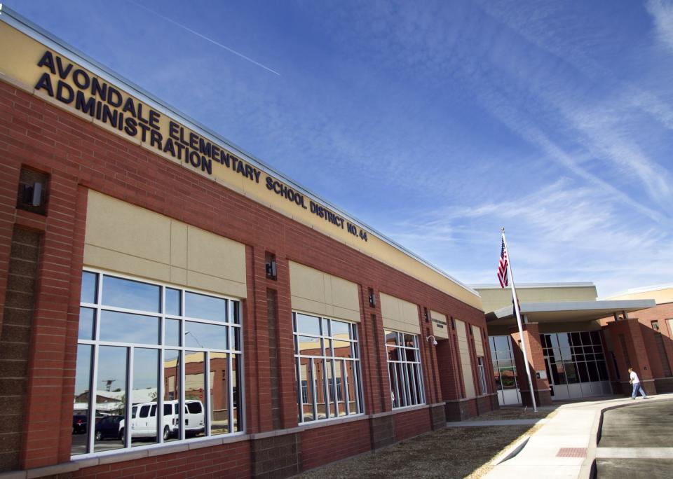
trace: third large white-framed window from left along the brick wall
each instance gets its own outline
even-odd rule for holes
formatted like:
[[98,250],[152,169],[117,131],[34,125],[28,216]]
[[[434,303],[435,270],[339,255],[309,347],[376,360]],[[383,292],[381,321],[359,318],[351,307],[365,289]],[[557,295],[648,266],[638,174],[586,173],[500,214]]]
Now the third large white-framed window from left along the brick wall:
[[393,408],[424,404],[423,373],[418,335],[386,331],[388,374]]

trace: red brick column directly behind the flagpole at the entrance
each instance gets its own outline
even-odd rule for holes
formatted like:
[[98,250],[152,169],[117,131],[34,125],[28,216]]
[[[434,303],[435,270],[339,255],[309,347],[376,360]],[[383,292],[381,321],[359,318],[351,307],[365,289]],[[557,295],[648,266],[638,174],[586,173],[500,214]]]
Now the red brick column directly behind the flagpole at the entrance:
[[523,330],[526,355],[528,356],[527,365],[524,365],[524,354],[519,345],[519,328],[517,326],[510,327],[510,335],[512,336],[512,340],[514,340],[514,345],[519,346],[514,348],[514,356],[517,365],[517,382],[519,383],[519,391],[521,391],[521,401],[524,405],[532,405],[531,390],[525,369],[528,367],[531,372],[536,404],[550,405],[552,403],[552,396],[549,389],[549,381],[546,379],[538,380],[535,375],[536,370],[546,370],[545,356],[542,352],[542,344],[540,342],[540,328],[537,323],[526,323],[523,325]]

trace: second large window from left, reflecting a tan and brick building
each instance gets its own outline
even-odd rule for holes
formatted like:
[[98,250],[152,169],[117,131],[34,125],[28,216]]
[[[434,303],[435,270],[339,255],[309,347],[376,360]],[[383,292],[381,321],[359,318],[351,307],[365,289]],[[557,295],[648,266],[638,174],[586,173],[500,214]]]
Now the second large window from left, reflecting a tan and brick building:
[[292,322],[299,422],[363,412],[355,324],[299,312]]

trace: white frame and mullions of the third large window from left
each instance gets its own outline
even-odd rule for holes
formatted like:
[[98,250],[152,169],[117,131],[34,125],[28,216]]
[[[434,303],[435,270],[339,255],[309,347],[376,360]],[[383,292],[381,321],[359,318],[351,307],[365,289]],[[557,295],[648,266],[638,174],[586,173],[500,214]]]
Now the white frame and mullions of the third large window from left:
[[[395,345],[388,344],[388,334],[395,334]],[[413,338],[413,346],[407,346],[405,336]],[[393,410],[413,408],[427,404],[425,384],[423,380],[423,362],[421,360],[421,335],[383,330],[383,347],[386,351],[386,366],[388,366],[388,380],[390,384],[390,400]],[[395,347],[397,359],[390,359],[388,348]],[[414,352],[414,361],[409,361],[408,353]],[[391,365],[395,368],[395,374],[390,373]],[[399,366],[397,366],[399,365]],[[398,378],[399,377],[399,378]],[[401,381],[400,381],[401,380]],[[402,384],[400,384],[402,382]],[[395,403],[399,405],[395,405]]]

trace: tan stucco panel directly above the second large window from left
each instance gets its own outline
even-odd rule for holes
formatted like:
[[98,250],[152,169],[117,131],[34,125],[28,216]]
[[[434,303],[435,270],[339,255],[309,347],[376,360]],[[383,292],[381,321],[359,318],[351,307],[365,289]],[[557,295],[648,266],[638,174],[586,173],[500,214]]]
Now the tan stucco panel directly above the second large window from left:
[[360,322],[358,285],[290,261],[292,309]]

